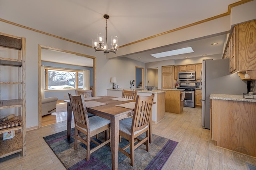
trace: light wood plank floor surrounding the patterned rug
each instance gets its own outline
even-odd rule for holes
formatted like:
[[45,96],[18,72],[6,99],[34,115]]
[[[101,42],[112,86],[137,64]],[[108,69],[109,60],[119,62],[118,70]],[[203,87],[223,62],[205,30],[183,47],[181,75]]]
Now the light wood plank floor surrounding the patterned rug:
[[[203,129],[201,110],[184,107],[178,115],[165,113],[164,119],[153,125],[153,133],[178,143],[163,170],[246,170],[246,164],[256,164],[256,158],[240,156],[218,148],[210,140],[210,130]],[[74,127],[74,121],[72,122]],[[66,121],[27,132],[27,155],[13,154],[0,159],[1,170],[65,170],[42,137],[66,130]],[[136,153],[135,153],[136,154]]]

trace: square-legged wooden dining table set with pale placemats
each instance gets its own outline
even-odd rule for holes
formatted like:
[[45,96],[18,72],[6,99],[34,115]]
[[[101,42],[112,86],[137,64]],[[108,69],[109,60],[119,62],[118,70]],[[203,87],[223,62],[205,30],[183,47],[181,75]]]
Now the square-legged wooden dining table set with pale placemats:
[[[70,139],[71,132],[71,120],[72,120],[72,108],[70,105],[70,100],[64,100],[67,102],[67,138]],[[103,117],[110,120],[110,146],[111,146],[111,158],[112,158],[112,170],[118,169],[118,147],[119,147],[119,121],[130,117],[133,115],[133,109],[128,109],[126,107],[120,107],[117,105],[135,104],[134,100],[127,100],[112,96],[99,96],[85,98],[85,103],[87,102],[98,102],[103,103],[102,105],[86,105],[88,113]],[[133,102],[133,103],[132,103]],[[135,106],[135,105],[134,105]],[[152,121],[150,121],[151,123]],[[151,128],[151,126],[150,126]],[[151,130],[150,130],[150,139],[151,139]]]

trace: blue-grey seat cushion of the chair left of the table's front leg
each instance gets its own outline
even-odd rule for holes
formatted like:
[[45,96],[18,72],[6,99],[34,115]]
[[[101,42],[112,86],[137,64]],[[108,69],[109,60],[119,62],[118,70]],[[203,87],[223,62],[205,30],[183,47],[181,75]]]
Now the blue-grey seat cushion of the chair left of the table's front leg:
[[[104,127],[105,125],[110,124],[110,120],[104,119],[99,116],[92,116],[92,117],[89,117],[89,123],[90,123],[90,130],[93,131],[100,127]],[[76,125],[76,126],[78,126],[78,125]],[[84,128],[82,128],[82,129],[84,129]],[[86,131],[86,129],[84,129],[84,130]]]

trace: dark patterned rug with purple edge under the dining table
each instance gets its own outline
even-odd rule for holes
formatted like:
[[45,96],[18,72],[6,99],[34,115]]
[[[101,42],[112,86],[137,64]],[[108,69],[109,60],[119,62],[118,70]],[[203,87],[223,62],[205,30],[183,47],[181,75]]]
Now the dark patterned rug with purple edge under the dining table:
[[[46,143],[50,146],[52,151],[56,154],[66,169],[111,170],[111,148],[108,145],[105,145],[93,152],[90,156],[90,160],[86,161],[85,144],[79,141],[78,149],[74,150],[74,128],[71,129],[70,141],[67,140],[66,134],[67,132],[65,130],[63,132],[58,132],[56,134],[44,137]],[[102,133],[100,137],[104,137],[104,134]],[[97,139],[94,138],[94,140]],[[119,146],[122,147],[126,144],[128,144],[128,141],[122,138],[122,142],[120,142]],[[118,169],[160,170],[165,164],[166,160],[172,154],[172,151],[177,144],[178,142],[152,134],[152,142],[149,147],[149,152],[146,151],[146,146],[144,144],[135,150],[135,165],[133,167],[130,165],[130,158],[119,152]],[[95,144],[91,143],[91,147],[95,147]],[[130,150],[130,148],[127,148],[127,150]]]

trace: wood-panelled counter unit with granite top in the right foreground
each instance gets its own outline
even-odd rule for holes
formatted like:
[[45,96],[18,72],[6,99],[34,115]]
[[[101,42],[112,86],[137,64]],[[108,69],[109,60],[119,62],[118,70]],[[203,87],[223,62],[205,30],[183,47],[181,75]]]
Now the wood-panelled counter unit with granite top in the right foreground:
[[216,146],[256,157],[256,99],[211,94],[212,140]]

